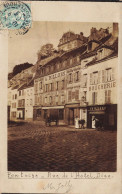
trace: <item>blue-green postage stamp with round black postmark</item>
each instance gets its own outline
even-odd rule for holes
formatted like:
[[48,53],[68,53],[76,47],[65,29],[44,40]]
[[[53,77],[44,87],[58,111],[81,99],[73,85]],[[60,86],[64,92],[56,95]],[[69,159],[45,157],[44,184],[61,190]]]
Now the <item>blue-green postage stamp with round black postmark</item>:
[[0,6],[0,30],[21,30],[26,33],[31,27],[31,9],[29,3],[21,1],[4,2]]

